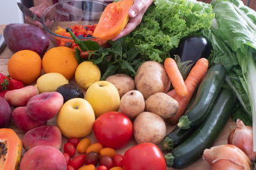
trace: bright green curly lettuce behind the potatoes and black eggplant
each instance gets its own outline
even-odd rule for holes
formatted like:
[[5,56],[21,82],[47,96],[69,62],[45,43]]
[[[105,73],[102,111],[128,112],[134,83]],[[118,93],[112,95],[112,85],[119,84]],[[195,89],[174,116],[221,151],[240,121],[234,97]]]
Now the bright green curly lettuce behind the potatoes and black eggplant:
[[163,62],[184,36],[209,29],[214,18],[210,4],[194,0],[155,0],[141,24],[124,41],[145,60]]

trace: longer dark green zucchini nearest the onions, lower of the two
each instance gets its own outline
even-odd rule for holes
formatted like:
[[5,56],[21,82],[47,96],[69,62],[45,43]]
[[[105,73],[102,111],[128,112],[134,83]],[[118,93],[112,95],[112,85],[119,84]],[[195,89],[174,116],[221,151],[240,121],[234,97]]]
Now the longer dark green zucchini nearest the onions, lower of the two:
[[205,148],[210,148],[213,145],[214,140],[227,123],[235,101],[236,95],[231,90],[221,89],[204,122],[195,129],[186,141],[174,148],[172,153],[164,156],[167,166],[183,169],[200,159]]

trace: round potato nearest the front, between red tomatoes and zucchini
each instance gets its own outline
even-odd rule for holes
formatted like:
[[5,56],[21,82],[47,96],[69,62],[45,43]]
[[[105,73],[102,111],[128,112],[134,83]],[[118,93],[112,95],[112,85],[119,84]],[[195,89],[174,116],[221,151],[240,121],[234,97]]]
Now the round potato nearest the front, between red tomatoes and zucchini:
[[143,112],[135,118],[134,138],[137,143],[150,142],[159,144],[166,134],[166,125],[163,118],[151,112]]

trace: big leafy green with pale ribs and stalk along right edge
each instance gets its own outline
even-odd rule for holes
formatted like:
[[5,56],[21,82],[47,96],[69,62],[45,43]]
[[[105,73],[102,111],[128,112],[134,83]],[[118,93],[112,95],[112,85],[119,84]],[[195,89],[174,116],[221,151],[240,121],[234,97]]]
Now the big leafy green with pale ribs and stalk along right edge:
[[[217,22],[211,29],[235,52],[238,66],[234,63],[232,67],[248,96],[256,151],[256,12],[240,0],[212,0],[211,4]],[[238,91],[232,81],[227,83]]]

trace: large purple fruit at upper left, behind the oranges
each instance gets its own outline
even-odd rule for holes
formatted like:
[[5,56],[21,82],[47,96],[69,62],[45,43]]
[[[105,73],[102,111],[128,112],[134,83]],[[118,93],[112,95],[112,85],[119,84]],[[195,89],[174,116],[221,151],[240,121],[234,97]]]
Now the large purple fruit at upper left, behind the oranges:
[[4,28],[4,40],[13,52],[32,50],[44,55],[49,47],[49,39],[42,29],[30,24],[8,24]]

